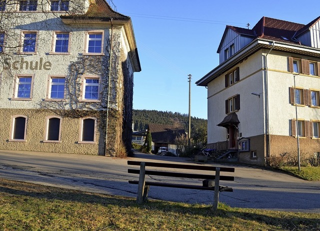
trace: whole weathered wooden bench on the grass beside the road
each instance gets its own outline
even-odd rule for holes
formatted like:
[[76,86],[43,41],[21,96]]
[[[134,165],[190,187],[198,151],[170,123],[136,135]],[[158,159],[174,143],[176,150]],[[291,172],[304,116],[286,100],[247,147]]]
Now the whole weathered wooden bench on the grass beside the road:
[[[215,166],[203,166],[198,164],[180,164],[180,163],[158,163],[158,162],[141,162],[141,161],[127,161],[128,165],[140,166],[140,169],[128,169],[128,173],[139,174],[139,180],[129,180],[129,183],[138,184],[136,201],[142,203],[147,201],[147,195],[150,186],[162,186],[162,187],[176,187],[176,188],[189,188],[200,190],[214,191],[212,209],[216,210],[219,200],[220,191],[233,191],[231,187],[222,187],[219,185],[220,180],[233,181],[234,176],[220,175],[220,172],[234,172],[234,167],[215,167]],[[148,168],[147,170],[145,168]],[[157,168],[169,168],[169,169],[192,169],[206,171],[206,174],[199,173],[183,173],[180,171],[167,171],[159,170]],[[215,172],[215,175],[214,175]],[[168,176],[177,178],[194,178],[194,179],[207,179],[214,180],[214,186],[203,186],[193,184],[182,183],[168,183],[163,181],[145,181],[145,175],[157,175]]]

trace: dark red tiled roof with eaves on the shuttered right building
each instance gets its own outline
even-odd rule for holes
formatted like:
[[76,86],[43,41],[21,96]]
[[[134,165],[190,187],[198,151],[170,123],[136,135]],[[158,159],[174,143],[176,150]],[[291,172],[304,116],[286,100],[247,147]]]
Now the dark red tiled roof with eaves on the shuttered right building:
[[241,50],[237,51],[230,58],[226,59],[214,69],[197,80],[195,84],[207,86],[214,78],[223,74],[225,71],[233,68],[243,59],[252,55],[259,49],[274,49],[285,52],[307,55],[310,57],[319,58],[320,49],[301,44],[298,36],[307,32],[309,28],[320,20],[320,16],[309,22],[308,24],[300,24],[270,17],[262,17],[252,29],[240,28],[236,26],[226,25],[223,36],[221,38],[218,51],[226,36],[227,30],[231,29],[242,36],[251,36],[252,41],[246,44]]

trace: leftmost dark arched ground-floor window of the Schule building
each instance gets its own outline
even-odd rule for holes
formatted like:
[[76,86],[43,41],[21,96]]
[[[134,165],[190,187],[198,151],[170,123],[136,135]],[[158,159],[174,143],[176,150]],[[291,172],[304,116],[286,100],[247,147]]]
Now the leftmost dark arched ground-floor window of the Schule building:
[[26,116],[12,116],[10,141],[25,141]]

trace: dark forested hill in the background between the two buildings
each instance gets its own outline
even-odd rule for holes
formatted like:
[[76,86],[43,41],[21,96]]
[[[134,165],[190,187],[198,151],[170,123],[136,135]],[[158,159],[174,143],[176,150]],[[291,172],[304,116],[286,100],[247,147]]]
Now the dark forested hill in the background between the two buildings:
[[[157,124],[181,124],[185,131],[188,130],[189,117],[188,114],[181,114],[179,112],[158,111],[158,110],[137,110],[133,109],[132,123],[134,123],[133,130],[144,130],[149,123]],[[191,116],[191,127],[203,127],[206,130],[207,120]]]

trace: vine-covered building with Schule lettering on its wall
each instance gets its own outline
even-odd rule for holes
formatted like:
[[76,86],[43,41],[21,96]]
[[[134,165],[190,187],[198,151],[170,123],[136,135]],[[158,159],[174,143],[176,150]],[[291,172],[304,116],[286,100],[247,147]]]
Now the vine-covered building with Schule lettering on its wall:
[[131,147],[131,19],[104,0],[0,1],[0,149]]

